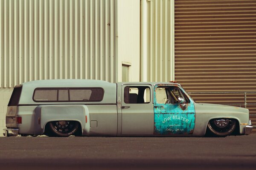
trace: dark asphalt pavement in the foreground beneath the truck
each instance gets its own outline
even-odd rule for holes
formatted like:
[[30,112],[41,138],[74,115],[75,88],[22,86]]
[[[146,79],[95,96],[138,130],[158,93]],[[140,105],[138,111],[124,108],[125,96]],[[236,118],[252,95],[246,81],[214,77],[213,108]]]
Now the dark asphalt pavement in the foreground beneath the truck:
[[209,137],[0,137],[0,170],[256,169],[256,134]]

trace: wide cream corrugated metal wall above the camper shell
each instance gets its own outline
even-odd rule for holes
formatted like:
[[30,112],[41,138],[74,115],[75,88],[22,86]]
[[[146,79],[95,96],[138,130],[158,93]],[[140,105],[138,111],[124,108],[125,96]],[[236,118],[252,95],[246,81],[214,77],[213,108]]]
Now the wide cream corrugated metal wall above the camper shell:
[[0,87],[115,81],[115,0],[0,0]]

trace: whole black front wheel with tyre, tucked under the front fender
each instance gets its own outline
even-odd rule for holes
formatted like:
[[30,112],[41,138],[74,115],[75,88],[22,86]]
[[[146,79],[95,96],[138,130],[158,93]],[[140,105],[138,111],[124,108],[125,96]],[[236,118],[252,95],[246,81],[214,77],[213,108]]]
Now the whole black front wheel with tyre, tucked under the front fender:
[[207,125],[210,132],[217,136],[228,136],[236,128],[235,119],[212,119]]

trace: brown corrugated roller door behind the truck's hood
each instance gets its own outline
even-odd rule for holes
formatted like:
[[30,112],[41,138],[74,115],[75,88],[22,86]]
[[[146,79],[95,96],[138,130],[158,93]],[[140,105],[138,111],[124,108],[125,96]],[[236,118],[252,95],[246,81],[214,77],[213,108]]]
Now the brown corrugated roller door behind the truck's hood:
[[[175,80],[193,93],[256,92],[256,0],[175,0]],[[245,107],[244,94],[191,96]],[[256,94],[246,96],[256,125]]]

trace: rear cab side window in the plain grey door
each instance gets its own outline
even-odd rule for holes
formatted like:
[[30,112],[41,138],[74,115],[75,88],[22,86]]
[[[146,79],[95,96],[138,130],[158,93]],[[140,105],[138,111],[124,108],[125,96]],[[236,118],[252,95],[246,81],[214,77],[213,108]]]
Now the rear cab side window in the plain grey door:
[[150,88],[147,86],[126,86],[124,89],[125,103],[149,103]]

